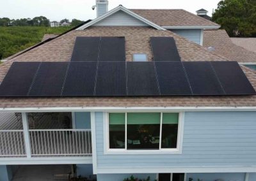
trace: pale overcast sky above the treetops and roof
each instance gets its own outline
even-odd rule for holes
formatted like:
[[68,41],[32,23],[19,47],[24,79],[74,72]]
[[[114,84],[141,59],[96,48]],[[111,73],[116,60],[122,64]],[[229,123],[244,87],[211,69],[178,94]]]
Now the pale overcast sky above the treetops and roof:
[[[204,8],[212,14],[220,0],[109,0],[109,10],[119,4],[133,9],[184,9],[195,13]],[[33,18],[44,16],[51,21],[63,18],[88,20],[96,17],[95,0],[0,0],[0,18]]]

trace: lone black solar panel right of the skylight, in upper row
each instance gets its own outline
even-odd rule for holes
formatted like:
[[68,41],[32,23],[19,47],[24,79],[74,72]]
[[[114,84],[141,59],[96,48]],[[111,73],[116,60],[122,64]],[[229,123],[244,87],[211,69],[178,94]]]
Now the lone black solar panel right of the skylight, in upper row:
[[154,61],[180,61],[175,40],[172,37],[150,37]]

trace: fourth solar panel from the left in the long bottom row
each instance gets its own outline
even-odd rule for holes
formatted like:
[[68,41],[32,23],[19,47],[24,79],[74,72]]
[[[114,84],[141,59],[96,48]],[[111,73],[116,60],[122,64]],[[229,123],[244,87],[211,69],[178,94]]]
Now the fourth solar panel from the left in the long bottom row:
[[99,62],[96,96],[126,96],[125,62]]

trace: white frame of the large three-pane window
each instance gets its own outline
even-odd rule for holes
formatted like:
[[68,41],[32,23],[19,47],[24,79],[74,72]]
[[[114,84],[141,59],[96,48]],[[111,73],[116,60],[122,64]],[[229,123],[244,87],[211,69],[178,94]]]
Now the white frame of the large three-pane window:
[[[125,148],[109,148],[109,113],[125,113]],[[130,112],[104,112],[103,117],[103,134],[104,134],[104,154],[182,154],[182,144],[183,144],[183,134],[184,134],[184,112],[157,112],[161,113],[161,125],[163,113],[179,113],[179,123],[178,123],[178,136],[177,136],[177,148],[161,148],[161,136],[160,132],[159,138],[159,150],[127,150],[127,113]],[[131,112],[136,113],[136,112]],[[150,112],[138,112],[138,113],[150,113]],[[155,113],[155,112],[154,112]]]

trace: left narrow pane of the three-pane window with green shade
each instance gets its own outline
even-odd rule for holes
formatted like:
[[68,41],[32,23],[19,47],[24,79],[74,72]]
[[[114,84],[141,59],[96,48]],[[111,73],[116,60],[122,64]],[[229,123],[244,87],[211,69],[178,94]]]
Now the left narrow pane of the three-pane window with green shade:
[[125,148],[125,113],[109,113],[109,148]]

